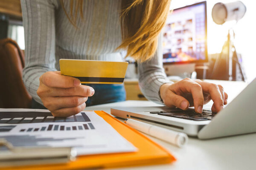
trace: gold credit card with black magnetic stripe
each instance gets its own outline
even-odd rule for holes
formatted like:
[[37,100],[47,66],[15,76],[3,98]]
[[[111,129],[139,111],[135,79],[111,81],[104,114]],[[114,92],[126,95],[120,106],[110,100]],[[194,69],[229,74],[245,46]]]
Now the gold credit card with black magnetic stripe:
[[93,84],[122,84],[128,66],[128,62],[85,59],[60,59],[59,62],[62,75]]

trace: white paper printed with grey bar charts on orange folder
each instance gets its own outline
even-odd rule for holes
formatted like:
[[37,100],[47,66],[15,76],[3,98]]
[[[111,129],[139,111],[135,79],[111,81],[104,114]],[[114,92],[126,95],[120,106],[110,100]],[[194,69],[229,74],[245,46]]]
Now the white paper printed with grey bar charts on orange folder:
[[78,155],[137,150],[93,111],[58,118],[48,110],[0,109],[0,138],[15,147],[75,147]]

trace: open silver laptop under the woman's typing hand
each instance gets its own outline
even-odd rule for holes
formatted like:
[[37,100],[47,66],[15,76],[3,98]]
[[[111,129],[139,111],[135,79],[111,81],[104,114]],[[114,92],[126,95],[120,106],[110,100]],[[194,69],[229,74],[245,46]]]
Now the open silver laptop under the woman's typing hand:
[[211,139],[256,132],[256,79],[219,113],[204,109],[138,107],[111,108],[111,114],[123,119],[131,118],[183,132],[199,139]]

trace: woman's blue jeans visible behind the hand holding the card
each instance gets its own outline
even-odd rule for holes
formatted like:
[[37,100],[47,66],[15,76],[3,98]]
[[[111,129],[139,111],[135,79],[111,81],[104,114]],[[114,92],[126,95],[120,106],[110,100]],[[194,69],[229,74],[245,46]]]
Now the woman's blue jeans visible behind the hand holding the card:
[[[95,90],[93,96],[88,97],[86,106],[100,105],[112,102],[121,102],[126,99],[125,87],[123,84],[83,84]],[[43,105],[32,99],[32,109],[46,109]]]

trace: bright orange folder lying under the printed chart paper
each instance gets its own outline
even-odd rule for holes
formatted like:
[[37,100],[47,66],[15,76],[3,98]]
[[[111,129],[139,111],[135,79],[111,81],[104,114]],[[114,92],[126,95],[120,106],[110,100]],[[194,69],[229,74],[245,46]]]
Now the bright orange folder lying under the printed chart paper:
[[[47,164],[40,166],[8,167],[6,170],[74,170],[74,169],[97,169],[114,167],[131,167],[139,165],[167,164],[175,161],[169,151],[153,142],[142,133],[125,125],[104,111],[95,111],[106,122],[108,122],[125,139],[138,148],[133,153],[111,153],[78,156],[76,161],[66,164]],[[50,153],[49,153],[50,154]]]

